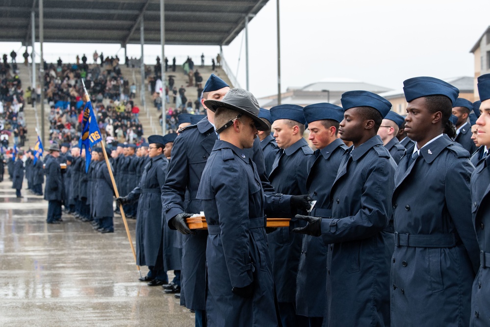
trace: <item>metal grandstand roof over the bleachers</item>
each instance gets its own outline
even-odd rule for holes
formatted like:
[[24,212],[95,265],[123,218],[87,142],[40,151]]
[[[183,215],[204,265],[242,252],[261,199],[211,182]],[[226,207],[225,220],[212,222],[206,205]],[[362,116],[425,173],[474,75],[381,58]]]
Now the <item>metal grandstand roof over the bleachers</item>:
[[[229,45],[268,0],[164,0],[165,44]],[[43,0],[44,42],[160,44],[160,0]],[[38,0],[0,1],[0,42],[30,44]]]

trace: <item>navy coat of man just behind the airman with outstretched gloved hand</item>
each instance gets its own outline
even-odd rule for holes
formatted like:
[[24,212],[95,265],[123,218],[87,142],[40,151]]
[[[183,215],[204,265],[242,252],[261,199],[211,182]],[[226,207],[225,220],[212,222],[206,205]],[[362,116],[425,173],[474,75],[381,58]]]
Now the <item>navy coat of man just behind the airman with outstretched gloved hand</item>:
[[[347,146],[336,139],[308,158],[306,187],[311,199],[317,201],[309,215],[332,217],[330,189]],[[303,236],[299,258],[296,313],[305,317],[323,317],[327,278],[328,244],[321,237]],[[315,283],[311,281],[315,280]]]

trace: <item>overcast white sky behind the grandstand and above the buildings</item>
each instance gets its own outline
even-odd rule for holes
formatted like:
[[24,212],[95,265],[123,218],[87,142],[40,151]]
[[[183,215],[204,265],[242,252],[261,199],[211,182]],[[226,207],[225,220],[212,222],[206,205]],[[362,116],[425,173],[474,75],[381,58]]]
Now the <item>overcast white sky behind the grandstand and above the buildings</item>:
[[[414,76],[473,76],[469,50],[490,25],[489,13],[489,0],[280,0],[282,91],[326,78],[401,89],[403,80]],[[258,98],[277,93],[276,33],[276,0],[269,0],[249,24],[250,91]],[[244,88],[242,34],[223,51]],[[20,47],[3,43],[0,52]],[[86,52],[91,58],[94,49],[112,55],[120,46],[44,47],[48,60],[60,55],[71,62],[77,53]],[[189,54],[198,64],[204,52],[210,64],[218,51],[219,47],[165,47],[166,55],[177,56],[178,63]],[[155,63],[158,53],[158,46],[145,46],[145,62]],[[118,55],[123,57],[124,51]],[[128,55],[139,57],[140,46],[129,45]]]

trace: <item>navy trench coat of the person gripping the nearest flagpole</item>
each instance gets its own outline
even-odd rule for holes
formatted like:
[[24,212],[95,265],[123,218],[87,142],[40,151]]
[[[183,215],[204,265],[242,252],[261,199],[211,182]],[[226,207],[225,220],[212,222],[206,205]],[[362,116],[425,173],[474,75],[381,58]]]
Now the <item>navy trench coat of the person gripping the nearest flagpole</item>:
[[150,158],[141,177],[127,198],[138,201],[136,220],[136,261],[140,266],[155,266],[163,239],[161,187],[165,183],[168,160],[163,154]]

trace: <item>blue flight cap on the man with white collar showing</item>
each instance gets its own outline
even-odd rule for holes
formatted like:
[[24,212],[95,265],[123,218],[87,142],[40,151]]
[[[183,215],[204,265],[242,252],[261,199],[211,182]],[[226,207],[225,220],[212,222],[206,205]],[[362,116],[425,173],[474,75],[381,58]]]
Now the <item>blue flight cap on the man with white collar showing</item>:
[[460,90],[449,83],[434,77],[413,77],[403,82],[403,92],[407,102],[418,98],[441,95],[448,97],[454,104]]

